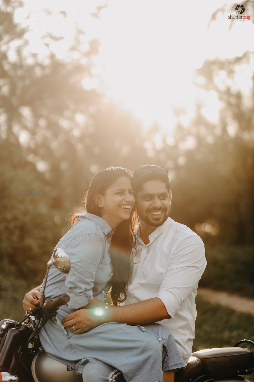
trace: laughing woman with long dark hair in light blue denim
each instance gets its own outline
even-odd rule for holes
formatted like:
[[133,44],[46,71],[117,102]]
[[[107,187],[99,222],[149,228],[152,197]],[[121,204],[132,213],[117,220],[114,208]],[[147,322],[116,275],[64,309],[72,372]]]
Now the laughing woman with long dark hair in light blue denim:
[[[164,368],[185,366],[173,335],[160,324],[149,325],[148,330],[109,322],[75,335],[78,327],[65,329],[61,322],[81,308],[105,314],[102,308],[110,288],[113,305],[126,298],[135,246],[131,178],[132,173],[120,167],[107,168],[94,176],[85,196],[87,213],[73,215],[72,228],[56,245],[68,254],[70,272],[66,275],[51,267],[48,275],[46,299],[67,293],[70,301],[41,329],[40,341],[51,358],[75,369],[84,382],[95,381],[89,376],[89,364],[93,363],[111,366],[108,380],[124,377],[127,382],[162,382]],[[122,374],[113,379],[115,368]]]

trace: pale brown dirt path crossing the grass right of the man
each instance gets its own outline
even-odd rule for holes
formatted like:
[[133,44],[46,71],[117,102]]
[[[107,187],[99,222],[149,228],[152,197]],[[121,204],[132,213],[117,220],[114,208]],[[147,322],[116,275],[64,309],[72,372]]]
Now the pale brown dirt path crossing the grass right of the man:
[[237,312],[250,313],[254,316],[254,299],[233,295],[226,292],[219,292],[208,288],[198,288],[197,295],[220,305],[232,308]]

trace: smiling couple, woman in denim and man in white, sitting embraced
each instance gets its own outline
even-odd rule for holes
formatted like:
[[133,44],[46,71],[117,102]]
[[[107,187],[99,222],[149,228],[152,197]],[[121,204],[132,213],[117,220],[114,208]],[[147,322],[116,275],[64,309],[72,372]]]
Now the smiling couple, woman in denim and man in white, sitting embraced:
[[[144,165],[134,175],[106,168],[84,206],[56,245],[71,270],[50,268],[45,297],[67,293],[70,301],[41,329],[44,350],[84,382],[173,382],[191,355],[206,259],[200,237],[169,217],[167,168]],[[26,294],[25,310],[42,288]],[[109,291],[112,304],[105,304]]]

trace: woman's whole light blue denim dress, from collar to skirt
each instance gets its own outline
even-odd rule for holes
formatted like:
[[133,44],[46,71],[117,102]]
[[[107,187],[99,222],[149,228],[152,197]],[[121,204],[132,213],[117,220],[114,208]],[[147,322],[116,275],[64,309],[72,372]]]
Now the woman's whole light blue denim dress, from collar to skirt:
[[109,256],[112,235],[105,220],[84,214],[56,245],[69,256],[71,269],[64,274],[50,268],[45,298],[67,293],[70,301],[40,330],[40,341],[51,358],[77,374],[82,375],[88,362],[105,363],[119,369],[127,382],[162,382],[163,371],[185,366],[173,335],[162,325],[109,322],[80,334],[62,325],[64,316],[91,303],[93,297],[104,301],[107,296],[113,275]]

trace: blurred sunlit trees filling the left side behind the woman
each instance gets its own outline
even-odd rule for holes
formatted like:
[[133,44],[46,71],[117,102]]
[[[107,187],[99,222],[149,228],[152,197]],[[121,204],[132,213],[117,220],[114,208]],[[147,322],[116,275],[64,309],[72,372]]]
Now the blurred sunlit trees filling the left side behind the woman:
[[[27,29],[13,18],[20,6],[22,2],[5,0],[0,8],[0,147],[5,164],[0,251],[5,269],[26,277],[38,269],[35,254],[46,263],[68,229],[65,218],[81,205],[94,173],[109,165],[134,168],[139,160],[146,162],[146,154],[141,124],[82,86],[84,78],[92,77],[97,40],[82,52],[78,30],[70,52],[79,59],[64,62],[50,51],[46,62],[39,62],[36,54],[24,54]],[[49,33],[44,37],[57,40]],[[54,194],[20,193],[34,189]]]

